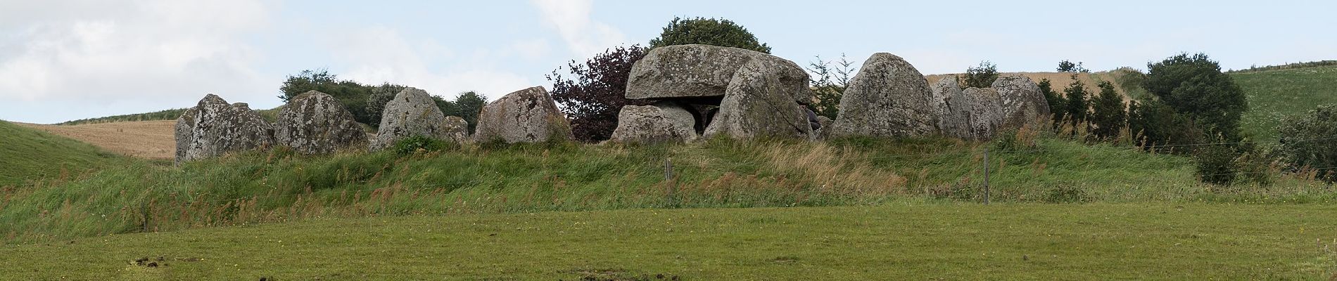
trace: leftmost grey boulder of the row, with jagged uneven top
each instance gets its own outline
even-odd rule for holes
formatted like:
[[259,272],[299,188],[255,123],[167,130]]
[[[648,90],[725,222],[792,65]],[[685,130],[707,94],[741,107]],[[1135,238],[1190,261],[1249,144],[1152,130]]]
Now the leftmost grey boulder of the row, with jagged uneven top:
[[176,119],[176,162],[266,148],[274,129],[246,104],[227,104],[217,95],[205,99]]

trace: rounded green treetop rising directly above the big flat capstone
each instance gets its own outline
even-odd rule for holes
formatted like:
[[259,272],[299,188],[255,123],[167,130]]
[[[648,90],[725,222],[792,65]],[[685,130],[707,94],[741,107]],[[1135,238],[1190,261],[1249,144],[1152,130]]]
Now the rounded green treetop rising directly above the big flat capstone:
[[766,43],[759,43],[755,35],[747,32],[747,28],[723,19],[674,17],[659,33],[659,37],[650,40],[651,49],[686,44],[734,47],[770,53],[770,47]]

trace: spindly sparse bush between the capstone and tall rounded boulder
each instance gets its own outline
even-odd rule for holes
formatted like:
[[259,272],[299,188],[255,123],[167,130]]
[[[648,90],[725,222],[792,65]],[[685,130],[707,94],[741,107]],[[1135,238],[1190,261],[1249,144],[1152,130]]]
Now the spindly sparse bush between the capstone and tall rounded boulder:
[[850,77],[854,76],[854,63],[840,55],[837,61],[824,61],[821,56],[817,61],[808,63],[808,72],[812,80],[813,103],[809,109],[820,116],[834,120],[840,115],[840,97],[845,95]]

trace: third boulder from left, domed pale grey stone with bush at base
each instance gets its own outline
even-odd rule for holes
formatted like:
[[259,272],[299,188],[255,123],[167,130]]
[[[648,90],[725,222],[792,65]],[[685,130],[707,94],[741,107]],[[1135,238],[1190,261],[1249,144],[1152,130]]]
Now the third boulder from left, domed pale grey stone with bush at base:
[[451,140],[447,136],[445,115],[436,107],[427,91],[404,88],[381,112],[381,127],[370,149],[381,150],[410,136]]

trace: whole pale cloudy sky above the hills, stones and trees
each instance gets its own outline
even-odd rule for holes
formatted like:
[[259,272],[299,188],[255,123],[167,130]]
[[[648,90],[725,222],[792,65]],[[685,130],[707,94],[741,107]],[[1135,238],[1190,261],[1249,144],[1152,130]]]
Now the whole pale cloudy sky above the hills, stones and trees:
[[1223,68],[1337,59],[1332,1],[262,1],[0,0],[0,120],[193,107],[206,93],[279,105],[286,75],[328,68],[453,97],[496,99],[674,16],[734,20],[808,65],[846,53],[955,73],[1144,68],[1206,52]]

